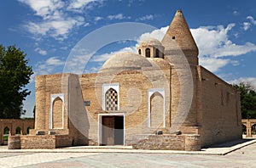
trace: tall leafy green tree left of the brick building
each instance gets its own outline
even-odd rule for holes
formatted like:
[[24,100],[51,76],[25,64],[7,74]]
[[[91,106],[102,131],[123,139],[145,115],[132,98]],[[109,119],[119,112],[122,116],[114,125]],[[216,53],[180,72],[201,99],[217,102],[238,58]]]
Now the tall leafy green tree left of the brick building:
[[25,88],[32,76],[26,53],[0,44],[0,118],[19,119],[26,113],[23,100],[30,92]]

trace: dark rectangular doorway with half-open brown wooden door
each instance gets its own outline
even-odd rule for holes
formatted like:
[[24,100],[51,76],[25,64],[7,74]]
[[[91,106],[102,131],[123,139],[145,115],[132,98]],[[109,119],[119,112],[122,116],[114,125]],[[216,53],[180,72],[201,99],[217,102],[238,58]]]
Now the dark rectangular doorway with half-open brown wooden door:
[[102,116],[101,145],[124,145],[124,116]]

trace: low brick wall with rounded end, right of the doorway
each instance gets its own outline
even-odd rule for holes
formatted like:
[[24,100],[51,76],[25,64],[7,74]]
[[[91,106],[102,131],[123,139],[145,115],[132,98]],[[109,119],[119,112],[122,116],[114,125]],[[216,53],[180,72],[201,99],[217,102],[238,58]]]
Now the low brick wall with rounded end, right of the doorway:
[[[143,139],[142,139],[143,137]],[[147,137],[147,138],[145,138]],[[133,148],[149,150],[187,150],[201,149],[199,135],[137,135]]]

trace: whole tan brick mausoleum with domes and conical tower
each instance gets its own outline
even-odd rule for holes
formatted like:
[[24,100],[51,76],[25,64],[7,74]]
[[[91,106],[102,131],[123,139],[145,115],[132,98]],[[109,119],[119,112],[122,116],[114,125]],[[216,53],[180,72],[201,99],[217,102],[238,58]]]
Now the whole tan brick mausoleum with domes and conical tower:
[[98,73],[37,76],[35,129],[21,148],[200,150],[241,138],[239,92],[199,65],[198,52],[177,10],[161,42],[117,53]]

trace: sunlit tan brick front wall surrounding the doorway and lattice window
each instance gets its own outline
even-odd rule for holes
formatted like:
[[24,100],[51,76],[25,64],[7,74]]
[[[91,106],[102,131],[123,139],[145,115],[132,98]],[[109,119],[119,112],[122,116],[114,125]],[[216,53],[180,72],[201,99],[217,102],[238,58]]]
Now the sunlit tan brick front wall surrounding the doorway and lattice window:
[[[127,143],[134,134],[153,133],[158,129],[158,126],[162,126],[163,108],[158,108],[160,113],[155,114],[159,115],[156,116],[157,123],[154,124],[154,128],[148,128],[148,89],[154,87],[165,88],[166,126],[170,126],[170,64],[163,59],[154,59],[153,62],[156,64],[155,67],[144,71],[120,70],[117,74],[114,74],[115,71],[102,71],[99,74],[84,74],[80,76],[79,81],[83,98],[86,101],[90,101],[90,106],[86,106],[86,112],[84,111],[88,114],[85,121],[88,120],[90,125],[88,133],[90,144],[98,142],[99,114],[125,114],[125,142]],[[157,81],[160,81],[160,83]],[[161,81],[166,81],[167,84]],[[117,82],[119,83],[119,111],[102,111],[102,85],[104,83]],[[163,98],[161,98],[161,104],[163,104],[162,100]],[[153,108],[155,109],[156,106]]]

